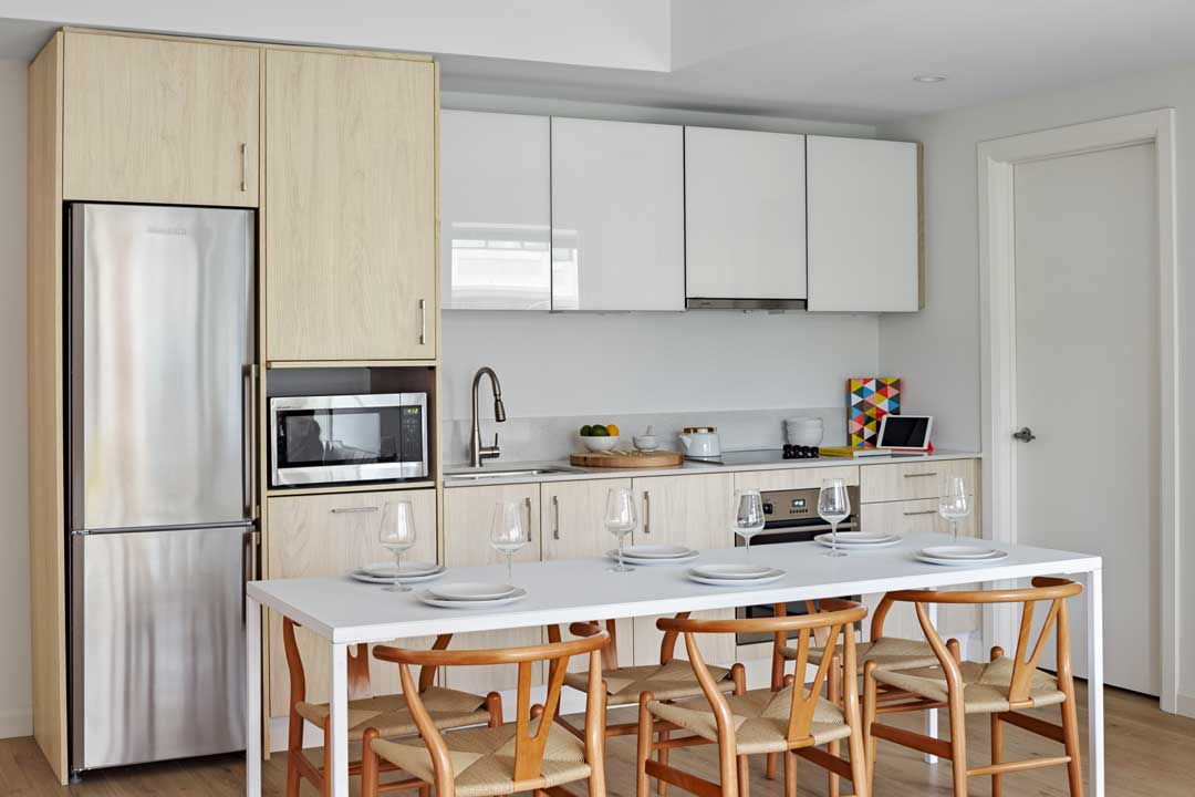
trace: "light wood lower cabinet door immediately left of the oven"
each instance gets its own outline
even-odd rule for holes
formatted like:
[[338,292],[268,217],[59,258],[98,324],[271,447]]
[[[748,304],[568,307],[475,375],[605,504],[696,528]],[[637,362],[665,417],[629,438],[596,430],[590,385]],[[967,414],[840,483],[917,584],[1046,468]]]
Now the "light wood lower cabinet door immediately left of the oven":
[[[651,476],[632,480],[639,504],[639,527],[632,534],[636,545],[687,545],[691,548],[734,547],[730,531],[730,502],[734,476]],[[638,574],[643,575],[643,574]],[[734,609],[694,612],[693,617],[733,618]],[[635,663],[660,662],[663,633],[656,629],[656,617],[635,618]],[[729,666],[735,661],[734,634],[703,634],[701,655],[711,664]],[[685,642],[676,642],[675,654],[685,655]]]

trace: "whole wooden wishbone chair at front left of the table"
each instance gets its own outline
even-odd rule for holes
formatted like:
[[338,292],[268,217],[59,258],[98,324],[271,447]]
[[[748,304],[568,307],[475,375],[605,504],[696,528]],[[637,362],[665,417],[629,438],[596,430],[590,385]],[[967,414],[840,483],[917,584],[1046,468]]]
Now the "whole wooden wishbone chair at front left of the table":
[[[537,797],[565,797],[560,786],[587,780],[589,797],[605,797],[606,693],[602,689],[601,651],[605,632],[568,642],[497,650],[405,650],[374,648],[374,656],[396,662],[403,691],[410,694],[411,713],[419,738],[388,741],[374,729],[364,732],[362,747],[362,797],[405,784],[380,784],[381,761],[402,768],[435,787],[437,797],[491,797],[534,791]],[[569,660],[589,655],[584,738],[553,722],[564,687]],[[532,666],[549,662],[547,695],[543,705],[531,704]],[[515,722],[490,728],[470,728],[441,734],[415,688],[411,664],[421,667],[468,667],[517,664],[519,700]]]

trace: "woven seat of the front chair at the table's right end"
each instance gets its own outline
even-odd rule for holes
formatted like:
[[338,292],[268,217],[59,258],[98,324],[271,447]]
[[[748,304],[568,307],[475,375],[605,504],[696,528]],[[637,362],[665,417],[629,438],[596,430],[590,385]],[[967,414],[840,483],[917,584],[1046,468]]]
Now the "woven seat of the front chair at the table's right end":
[[[963,676],[963,711],[967,713],[997,713],[1010,711],[1009,688],[1012,682],[1013,662],[1001,656],[992,662],[962,662],[958,667]],[[931,700],[946,703],[950,693],[946,676],[940,667],[913,670],[876,670],[876,682],[894,686]],[[1042,670],[1034,670],[1029,683],[1029,706],[1040,709],[1066,701],[1066,694],[1058,688],[1058,680]]]

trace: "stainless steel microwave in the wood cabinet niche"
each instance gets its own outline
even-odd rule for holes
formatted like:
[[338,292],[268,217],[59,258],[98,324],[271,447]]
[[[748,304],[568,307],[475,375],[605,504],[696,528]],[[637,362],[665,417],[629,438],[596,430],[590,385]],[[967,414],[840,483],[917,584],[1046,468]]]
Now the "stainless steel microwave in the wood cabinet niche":
[[270,399],[271,486],[427,476],[427,393]]

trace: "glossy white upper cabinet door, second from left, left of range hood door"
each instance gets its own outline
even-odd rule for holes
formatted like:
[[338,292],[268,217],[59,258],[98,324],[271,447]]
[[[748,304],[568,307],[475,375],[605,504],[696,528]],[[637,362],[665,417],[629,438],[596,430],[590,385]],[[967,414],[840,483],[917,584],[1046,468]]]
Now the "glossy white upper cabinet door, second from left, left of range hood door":
[[682,128],[552,119],[552,309],[685,308]]

